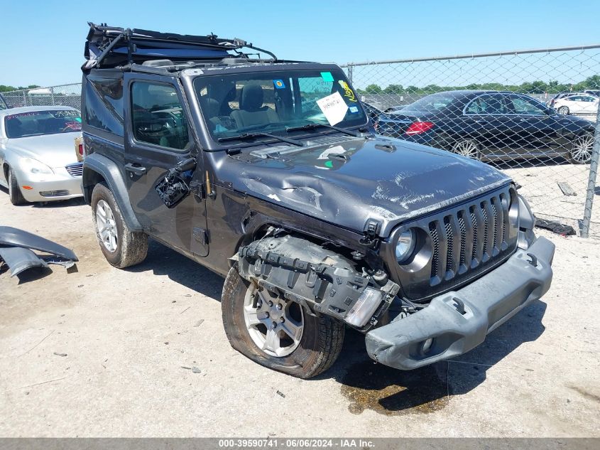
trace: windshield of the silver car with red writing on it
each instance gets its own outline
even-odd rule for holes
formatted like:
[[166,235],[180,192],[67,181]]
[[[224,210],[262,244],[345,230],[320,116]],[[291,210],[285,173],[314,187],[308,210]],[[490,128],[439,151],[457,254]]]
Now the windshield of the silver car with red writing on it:
[[81,131],[81,114],[75,109],[30,111],[4,117],[6,137],[18,138],[41,134]]

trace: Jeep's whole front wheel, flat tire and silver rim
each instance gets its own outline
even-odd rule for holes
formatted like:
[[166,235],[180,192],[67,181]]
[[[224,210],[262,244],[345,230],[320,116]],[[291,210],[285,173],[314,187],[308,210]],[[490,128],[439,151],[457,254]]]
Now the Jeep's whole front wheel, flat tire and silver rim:
[[221,308],[231,347],[267,368],[310,378],[330,368],[342,350],[343,323],[311,316],[299,304],[258,291],[240,276],[237,265],[225,279]]

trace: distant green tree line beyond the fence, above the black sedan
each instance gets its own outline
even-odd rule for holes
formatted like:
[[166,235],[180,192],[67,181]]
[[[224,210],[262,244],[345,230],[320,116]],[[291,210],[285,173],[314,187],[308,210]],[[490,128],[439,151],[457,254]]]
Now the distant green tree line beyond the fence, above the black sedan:
[[396,94],[396,95],[428,95],[435,92],[443,92],[447,90],[503,90],[511,92],[519,92],[522,94],[557,94],[559,92],[581,92],[587,89],[600,89],[600,75],[592,75],[584,81],[577,83],[559,83],[557,81],[532,81],[523,82],[520,85],[503,85],[497,82],[487,83],[471,83],[466,86],[438,86],[427,85],[425,87],[403,85],[388,85],[381,87],[376,84],[371,84],[364,89],[356,89],[359,94]]

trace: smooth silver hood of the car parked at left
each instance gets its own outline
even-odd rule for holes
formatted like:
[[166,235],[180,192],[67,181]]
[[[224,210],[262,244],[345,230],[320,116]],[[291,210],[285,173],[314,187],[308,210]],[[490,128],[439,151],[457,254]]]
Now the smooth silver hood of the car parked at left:
[[7,139],[6,150],[14,151],[24,158],[33,158],[46,166],[65,167],[77,162],[75,138],[80,132],[44,134],[42,136]]

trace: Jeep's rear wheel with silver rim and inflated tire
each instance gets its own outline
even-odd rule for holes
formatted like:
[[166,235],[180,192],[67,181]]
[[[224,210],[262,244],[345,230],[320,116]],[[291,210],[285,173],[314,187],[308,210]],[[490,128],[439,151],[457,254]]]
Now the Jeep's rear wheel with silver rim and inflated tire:
[[98,183],[92,191],[92,219],[100,250],[114,267],[139,264],[148,253],[148,235],[127,226],[108,186]]

